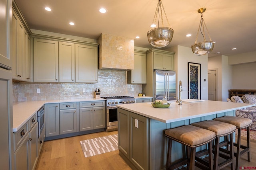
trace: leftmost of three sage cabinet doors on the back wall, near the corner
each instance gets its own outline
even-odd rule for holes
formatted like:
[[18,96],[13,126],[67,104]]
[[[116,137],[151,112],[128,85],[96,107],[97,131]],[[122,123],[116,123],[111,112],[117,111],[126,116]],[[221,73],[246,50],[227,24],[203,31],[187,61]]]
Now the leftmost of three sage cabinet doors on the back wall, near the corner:
[[34,82],[58,82],[58,41],[34,39]]

